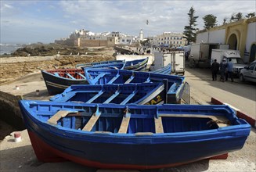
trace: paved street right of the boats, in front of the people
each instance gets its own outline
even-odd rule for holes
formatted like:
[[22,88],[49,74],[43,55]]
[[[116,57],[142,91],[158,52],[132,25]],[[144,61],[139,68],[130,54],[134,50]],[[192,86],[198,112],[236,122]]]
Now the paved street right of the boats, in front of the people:
[[[200,104],[211,102],[211,97],[240,109],[256,118],[256,84],[242,83],[235,78],[229,81],[212,81],[210,69],[186,68],[186,81],[190,85],[190,95]],[[219,76],[218,76],[219,79]]]

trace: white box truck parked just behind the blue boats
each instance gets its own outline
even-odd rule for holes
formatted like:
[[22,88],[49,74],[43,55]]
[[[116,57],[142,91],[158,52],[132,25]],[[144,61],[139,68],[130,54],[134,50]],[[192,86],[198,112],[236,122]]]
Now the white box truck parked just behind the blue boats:
[[154,62],[150,66],[150,70],[158,70],[164,66],[171,64],[171,73],[184,75],[185,59],[183,51],[173,52],[154,52]]

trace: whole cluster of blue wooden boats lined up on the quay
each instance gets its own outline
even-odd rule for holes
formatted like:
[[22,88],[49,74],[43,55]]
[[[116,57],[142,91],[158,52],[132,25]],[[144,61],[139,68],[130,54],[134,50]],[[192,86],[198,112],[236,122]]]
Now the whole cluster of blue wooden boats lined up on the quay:
[[178,105],[185,77],[170,75],[171,65],[143,71],[147,60],[42,70],[55,96],[20,101],[38,160],[153,169],[242,149],[245,120],[225,105]]

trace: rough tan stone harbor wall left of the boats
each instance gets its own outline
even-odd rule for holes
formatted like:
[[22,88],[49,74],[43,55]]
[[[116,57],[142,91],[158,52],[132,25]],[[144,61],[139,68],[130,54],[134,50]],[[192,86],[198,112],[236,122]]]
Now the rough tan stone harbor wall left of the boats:
[[[0,58],[0,84],[38,70],[74,68],[76,64],[114,60],[110,55],[30,56]],[[1,89],[0,89],[1,90]]]

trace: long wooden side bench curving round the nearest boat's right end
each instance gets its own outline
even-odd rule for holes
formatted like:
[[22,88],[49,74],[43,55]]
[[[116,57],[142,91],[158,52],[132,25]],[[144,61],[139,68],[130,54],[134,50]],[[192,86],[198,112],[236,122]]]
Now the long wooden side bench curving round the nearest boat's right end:
[[229,120],[225,116],[212,116],[212,115],[195,115],[195,114],[159,114],[159,116],[164,117],[193,117],[193,118],[211,118],[211,120],[217,120],[219,127],[229,126]]

